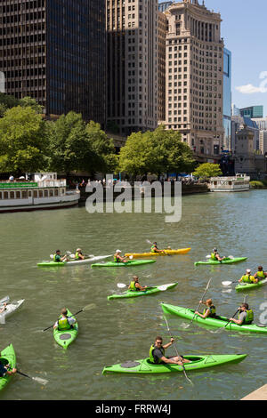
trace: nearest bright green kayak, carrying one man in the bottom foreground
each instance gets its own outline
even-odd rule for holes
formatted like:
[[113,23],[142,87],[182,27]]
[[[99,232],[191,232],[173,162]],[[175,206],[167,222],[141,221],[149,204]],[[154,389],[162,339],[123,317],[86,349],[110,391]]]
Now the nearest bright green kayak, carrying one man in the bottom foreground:
[[[185,363],[184,368],[187,372],[195,370],[203,370],[208,367],[222,366],[228,363],[239,363],[247,357],[247,354],[219,354],[204,356],[183,356],[191,361]],[[175,373],[182,372],[182,366],[179,365],[155,365],[150,362],[150,358],[143,360],[127,361],[122,364],[106,366],[103,368],[102,374],[106,373],[138,373],[138,374],[157,374],[157,373]]]

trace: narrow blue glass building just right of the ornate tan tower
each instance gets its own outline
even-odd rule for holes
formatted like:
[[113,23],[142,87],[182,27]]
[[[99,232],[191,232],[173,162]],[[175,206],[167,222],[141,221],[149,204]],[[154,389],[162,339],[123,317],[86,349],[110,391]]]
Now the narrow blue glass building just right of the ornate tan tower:
[[223,48],[223,149],[231,151],[231,52]]

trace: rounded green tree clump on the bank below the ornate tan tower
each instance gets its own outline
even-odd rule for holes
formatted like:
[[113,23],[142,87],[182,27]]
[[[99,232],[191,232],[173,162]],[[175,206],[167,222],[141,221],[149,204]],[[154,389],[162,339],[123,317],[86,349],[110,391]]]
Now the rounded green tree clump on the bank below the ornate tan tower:
[[120,150],[120,171],[130,174],[189,173],[195,164],[190,147],[164,125],[154,132],[132,133]]

